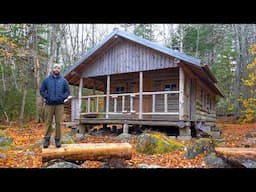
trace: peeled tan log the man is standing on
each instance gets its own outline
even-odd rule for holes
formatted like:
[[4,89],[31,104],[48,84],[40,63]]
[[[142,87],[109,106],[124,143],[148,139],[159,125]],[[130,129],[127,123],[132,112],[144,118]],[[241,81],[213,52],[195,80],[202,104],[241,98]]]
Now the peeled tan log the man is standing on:
[[50,146],[42,149],[42,161],[63,159],[66,161],[106,160],[110,158],[131,159],[129,143],[80,143],[62,144],[60,148]]

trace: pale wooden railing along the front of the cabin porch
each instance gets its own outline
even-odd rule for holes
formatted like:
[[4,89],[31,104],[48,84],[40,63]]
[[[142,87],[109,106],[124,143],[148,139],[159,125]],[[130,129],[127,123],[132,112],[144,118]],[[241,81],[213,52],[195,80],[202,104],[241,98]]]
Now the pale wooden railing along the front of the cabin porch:
[[[151,111],[142,111],[142,115],[179,115],[179,110],[177,111],[169,111],[168,110],[168,95],[176,95],[179,94],[179,91],[157,91],[157,92],[143,92],[142,93],[142,100],[147,96],[151,96],[151,104],[152,108]],[[163,103],[164,107],[162,111],[156,110],[156,96],[163,95]],[[138,98],[139,101],[139,92],[137,93],[120,93],[120,94],[109,94],[109,106],[108,109],[112,109],[106,111],[107,107],[103,107],[106,104],[107,95],[89,95],[89,96],[82,96],[81,99],[86,100],[85,106],[86,111],[81,111],[81,115],[121,115],[121,114],[139,114],[138,111],[134,109],[134,102],[135,98]],[[162,99],[162,98],[161,98]],[[127,102],[128,101],[128,102]],[[142,102],[143,102],[142,101]],[[158,99],[159,101],[159,99]],[[177,99],[179,102],[179,99]],[[121,106],[120,106],[121,104]],[[139,103],[138,103],[139,105]],[[121,110],[120,110],[121,108]],[[119,109],[119,110],[118,110]]]

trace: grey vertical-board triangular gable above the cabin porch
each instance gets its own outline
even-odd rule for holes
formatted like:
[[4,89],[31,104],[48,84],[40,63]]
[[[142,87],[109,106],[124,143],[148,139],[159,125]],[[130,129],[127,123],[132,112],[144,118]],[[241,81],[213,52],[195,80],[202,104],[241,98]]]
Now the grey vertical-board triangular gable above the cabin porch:
[[174,59],[140,44],[123,40],[87,65],[83,77],[176,67]]

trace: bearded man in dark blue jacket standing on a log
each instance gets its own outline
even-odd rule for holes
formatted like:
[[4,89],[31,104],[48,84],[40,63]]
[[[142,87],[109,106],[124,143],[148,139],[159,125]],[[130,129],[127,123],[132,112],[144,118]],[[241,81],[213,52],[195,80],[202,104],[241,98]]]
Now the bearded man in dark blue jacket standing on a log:
[[53,131],[52,120],[55,118],[55,145],[61,147],[61,122],[64,114],[64,100],[68,98],[70,89],[68,81],[60,74],[60,64],[53,65],[53,71],[45,78],[40,87],[40,94],[45,99],[46,133],[44,148],[48,148]]

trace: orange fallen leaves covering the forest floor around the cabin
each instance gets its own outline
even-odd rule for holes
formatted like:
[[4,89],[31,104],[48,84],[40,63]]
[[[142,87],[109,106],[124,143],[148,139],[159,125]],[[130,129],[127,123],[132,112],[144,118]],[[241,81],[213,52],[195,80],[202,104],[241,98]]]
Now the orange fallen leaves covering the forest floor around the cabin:
[[[10,137],[13,142],[10,146],[0,147],[0,168],[41,168],[42,167],[42,141],[45,133],[45,125],[30,122],[23,126],[0,126],[0,135]],[[256,123],[250,124],[229,124],[223,121],[218,122],[221,128],[221,137],[225,139],[224,146],[244,147],[246,134],[256,132]],[[70,132],[70,128],[63,128],[63,134]],[[158,155],[144,155],[136,152],[137,135],[133,135],[130,144],[133,146],[132,158],[126,160],[128,167],[136,168],[140,164],[157,165],[161,168],[207,168],[203,158],[206,154],[200,154],[195,159],[185,159],[185,151],[175,151]],[[195,141],[183,141],[190,145]],[[120,142],[109,135],[88,136],[81,140],[83,143],[116,143]],[[79,142],[77,142],[79,143]],[[53,144],[51,144],[53,145]],[[256,147],[252,145],[250,147]],[[82,168],[98,168],[102,166],[99,161],[86,161]]]

